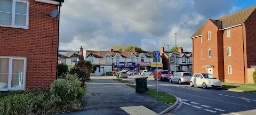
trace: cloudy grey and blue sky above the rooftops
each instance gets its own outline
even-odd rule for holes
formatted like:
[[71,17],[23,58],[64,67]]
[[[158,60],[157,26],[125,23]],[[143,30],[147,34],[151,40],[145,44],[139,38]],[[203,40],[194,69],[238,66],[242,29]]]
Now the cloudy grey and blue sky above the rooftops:
[[159,51],[167,44],[192,51],[191,36],[207,19],[256,5],[254,0],[65,0],[59,50],[109,51],[133,45]]

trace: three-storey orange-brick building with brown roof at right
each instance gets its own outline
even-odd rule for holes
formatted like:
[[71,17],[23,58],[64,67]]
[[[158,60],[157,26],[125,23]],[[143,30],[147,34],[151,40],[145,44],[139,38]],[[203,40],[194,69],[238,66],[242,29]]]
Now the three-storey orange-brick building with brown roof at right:
[[247,83],[256,65],[256,5],[212,20],[191,36],[193,72],[212,73],[227,83]]

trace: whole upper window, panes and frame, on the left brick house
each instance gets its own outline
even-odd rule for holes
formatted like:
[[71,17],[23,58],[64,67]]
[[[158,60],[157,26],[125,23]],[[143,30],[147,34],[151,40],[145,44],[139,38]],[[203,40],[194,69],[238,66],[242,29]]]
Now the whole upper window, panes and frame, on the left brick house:
[[28,4],[21,0],[1,0],[0,26],[28,28]]

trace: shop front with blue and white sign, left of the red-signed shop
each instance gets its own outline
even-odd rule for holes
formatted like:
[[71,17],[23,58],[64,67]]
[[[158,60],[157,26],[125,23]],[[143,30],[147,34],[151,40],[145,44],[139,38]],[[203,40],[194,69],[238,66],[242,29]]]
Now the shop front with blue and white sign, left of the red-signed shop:
[[115,62],[115,71],[128,70],[133,73],[137,72],[137,63],[136,62]]

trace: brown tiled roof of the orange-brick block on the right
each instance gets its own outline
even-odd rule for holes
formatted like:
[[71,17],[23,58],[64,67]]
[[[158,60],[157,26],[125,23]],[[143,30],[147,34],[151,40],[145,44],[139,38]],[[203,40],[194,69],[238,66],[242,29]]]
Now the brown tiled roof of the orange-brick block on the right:
[[[250,17],[250,15],[255,9],[256,9],[256,5],[248,7],[247,9],[226,15],[224,17],[218,18],[216,20],[211,20],[211,19],[210,20],[215,24],[216,27],[218,27],[219,29],[223,29],[223,28],[244,23]],[[204,26],[205,26],[205,23],[203,23],[201,27],[199,27],[196,30],[196,32],[191,36],[191,38],[201,35],[201,32]]]

